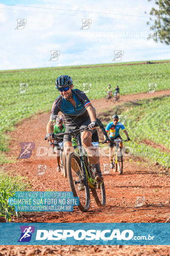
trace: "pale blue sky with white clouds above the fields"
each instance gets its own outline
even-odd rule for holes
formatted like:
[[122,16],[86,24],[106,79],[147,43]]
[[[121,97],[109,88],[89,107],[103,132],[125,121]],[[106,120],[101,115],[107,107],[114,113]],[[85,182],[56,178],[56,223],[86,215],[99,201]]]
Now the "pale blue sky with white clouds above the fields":
[[118,51],[119,62],[170,59],[169,46],[147,40],[153,6],[154,0],[1,1],[0,70],[113,63]]

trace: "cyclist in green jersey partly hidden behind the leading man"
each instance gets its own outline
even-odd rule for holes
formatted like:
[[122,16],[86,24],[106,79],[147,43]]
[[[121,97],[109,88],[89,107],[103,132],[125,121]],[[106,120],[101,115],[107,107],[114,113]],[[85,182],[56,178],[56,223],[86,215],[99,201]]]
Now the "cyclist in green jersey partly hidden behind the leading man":
[[[62,117],[59,116],[59,117],[57,118],[57,124],[54,125],[54,131],[53,131],[53,133],[54,133],[54,134],[59,134],[59,133],[62,133],[62,132],[65,132],[65,125],[64,125],[64,123],[63,123]],[[53,153],[53,154],[57,153],[57,157],[56,157],[56,160],[57,160],[57,172],[60,172],[60,165],[59,165],[59,161],[60,161],[59,149],[60,149],[60,146],[59,146],[58,141],[56,141],[56,140],[53,140],[53,142],[51,143],[51,145],[53,146],[53,151],[52,151],[52,153]]]

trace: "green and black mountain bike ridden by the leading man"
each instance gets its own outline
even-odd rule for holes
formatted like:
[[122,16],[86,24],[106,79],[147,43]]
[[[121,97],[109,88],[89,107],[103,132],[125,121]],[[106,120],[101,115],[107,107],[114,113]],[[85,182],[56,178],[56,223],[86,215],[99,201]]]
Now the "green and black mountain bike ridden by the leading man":
[[99,207],[105,206],[106,194],[104,182],[96,182],[93,167],[85,148],[82,147],[80,137],[82,131],[89,131],[89,129],[82,128],[63,134],[71,135],[74,148],[74,152],[70,152],[66,160],[68,183],[74,197],[79,197],[79,209],[87,212],[90,208],[90,192]]

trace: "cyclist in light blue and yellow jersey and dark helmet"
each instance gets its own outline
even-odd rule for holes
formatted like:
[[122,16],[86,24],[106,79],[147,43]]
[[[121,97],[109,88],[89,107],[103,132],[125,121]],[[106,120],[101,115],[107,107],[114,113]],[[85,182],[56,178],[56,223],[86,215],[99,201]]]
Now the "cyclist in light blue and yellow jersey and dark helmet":
[[[111,161],[111,168],[113,169],[114,166],[113,166],[113,154],[112,154],[112,151],[113,151],[113,146],[114,146],[114,140],[118,139],[118,138],[122,140],[122,138],[120,137],[120,134],[119,134],[120,128],[126,134],[127,141],[129,141],[130,138],[129,138],[129,135],[128,135],[127,131],[125,130],[125,126],[122,125],[121,122],[118,122],[119,121],[119,117],[117,115],[113,115],[112,116],[112,120],[113,120],[113,122],[108,123],[108,125],[106,126],[105,130],[106,130],[107,133],[109,131],[109,139],[110,139],[109,146],[111,148],[111,151],[110,151],[110,161]],[[119,146],[122,149],[122,147],[123,147],[122,142],[119,143]]]

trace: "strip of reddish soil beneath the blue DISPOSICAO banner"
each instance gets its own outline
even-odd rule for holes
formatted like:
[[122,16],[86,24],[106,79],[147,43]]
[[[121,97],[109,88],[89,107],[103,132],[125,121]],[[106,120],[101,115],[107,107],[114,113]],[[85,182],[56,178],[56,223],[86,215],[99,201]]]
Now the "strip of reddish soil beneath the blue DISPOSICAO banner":
[[169,256],[167,245],[3,245],[0,256]]

